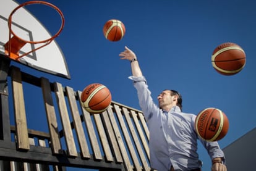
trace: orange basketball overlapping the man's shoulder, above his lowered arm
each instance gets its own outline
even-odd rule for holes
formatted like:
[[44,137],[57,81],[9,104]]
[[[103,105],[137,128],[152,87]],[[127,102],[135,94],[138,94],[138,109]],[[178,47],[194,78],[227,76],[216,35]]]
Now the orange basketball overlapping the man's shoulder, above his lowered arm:
[[221,140],[228,133],[228,128],[228,117],[220,109],[204,109],[195,118],[195,131],[203,140]]

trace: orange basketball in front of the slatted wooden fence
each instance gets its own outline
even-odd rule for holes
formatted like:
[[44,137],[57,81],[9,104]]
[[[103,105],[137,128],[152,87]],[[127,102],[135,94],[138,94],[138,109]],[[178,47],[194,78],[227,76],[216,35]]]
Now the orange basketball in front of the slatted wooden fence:
[[93,83],[83,89],[80,101],[86,111],[99,114],[111,104],[111,93],[105,85]]

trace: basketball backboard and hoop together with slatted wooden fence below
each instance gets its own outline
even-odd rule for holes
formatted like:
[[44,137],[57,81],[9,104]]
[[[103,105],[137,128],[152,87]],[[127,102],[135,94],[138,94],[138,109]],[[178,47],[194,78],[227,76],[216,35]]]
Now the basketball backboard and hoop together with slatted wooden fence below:
[[[56,33],[49,33],[43,21],[28,12],[36,3],[60,15]],[[76,167],[150,171],[149,132],[141,111],[111,101],[106,111],[92,114],[81,104],[81,91],[10,65],[14,61],[70,78],[54,39],[63,27],[64,16],[53,4],[1,0],[0,170],[61,171]],[[33,96],[27,96],[26,90],[35,90]],[[30,111],[30,107],[37,111]],[[43,107],[45,110],[40,110]],[[28,119],[32,115],[36,119]],[[46,129],[34,129],[32,122],[40,122],[40,129],[45,124]]]

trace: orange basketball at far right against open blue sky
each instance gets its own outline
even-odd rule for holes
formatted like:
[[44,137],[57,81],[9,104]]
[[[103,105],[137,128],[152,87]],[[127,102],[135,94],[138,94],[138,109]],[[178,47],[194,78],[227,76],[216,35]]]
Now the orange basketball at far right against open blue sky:
[[211,56],[213,68],[223,75],[241,72],[245,65],[245,52],[236,43],[220,44]]

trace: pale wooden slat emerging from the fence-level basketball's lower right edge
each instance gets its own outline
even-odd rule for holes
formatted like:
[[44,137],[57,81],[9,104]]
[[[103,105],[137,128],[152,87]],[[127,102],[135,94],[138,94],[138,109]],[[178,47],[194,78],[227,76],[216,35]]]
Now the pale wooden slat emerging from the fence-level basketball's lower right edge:
[[[111,106],[108,107],[108,111],[111,111]],[[113,112],[111,112],[111,114],[113,115]],[[108,140],[109,140],[111,149],[114,152],[114,156],[116,157],[116,161],[122,162],[121,152],[119,150],[119,147],[118,147],[118,144],[116,141],[116,136],[114,136],[113,126],[111,125],[107,111],[102,113],[101,119],[103,120],[103,123],[105,125],[106,134],[108,136]],[[117,130],[117,129],[118,128],[116,127],[115,130]]]

